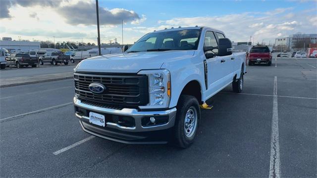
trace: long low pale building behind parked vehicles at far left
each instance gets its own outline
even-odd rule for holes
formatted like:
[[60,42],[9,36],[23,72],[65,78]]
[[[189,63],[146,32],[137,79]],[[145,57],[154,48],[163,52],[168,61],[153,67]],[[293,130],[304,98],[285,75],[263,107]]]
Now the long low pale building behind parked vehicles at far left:
[[0,47],[28,51],[40,48],[40,42],[0,40]]

